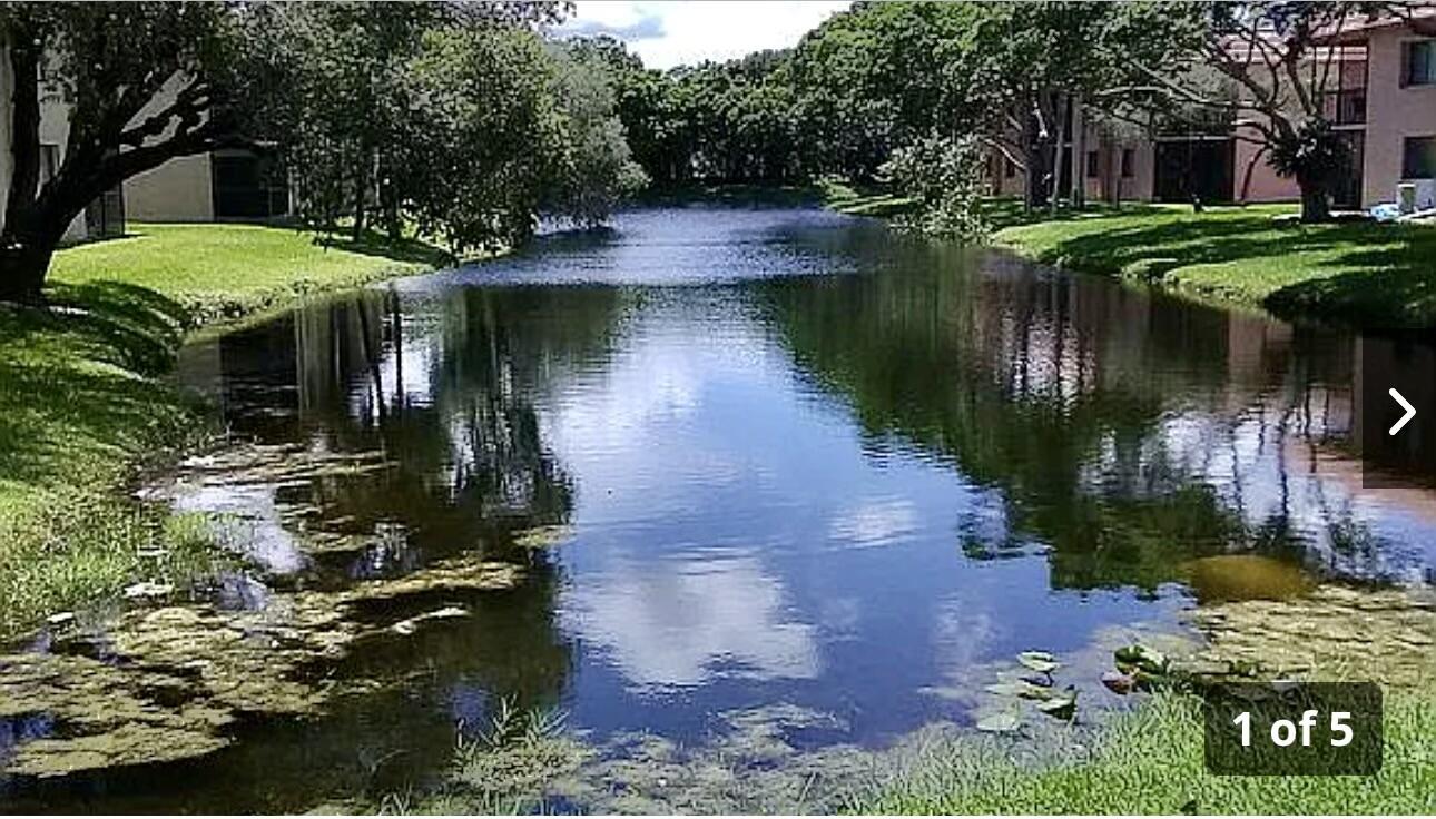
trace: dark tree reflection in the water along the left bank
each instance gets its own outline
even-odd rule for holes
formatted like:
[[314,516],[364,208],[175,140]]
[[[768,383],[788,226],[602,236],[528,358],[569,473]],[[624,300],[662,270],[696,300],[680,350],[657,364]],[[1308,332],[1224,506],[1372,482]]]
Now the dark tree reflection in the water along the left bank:
[[236,436],[382,452],[392,463],[279,489],[280,501],[313,508],[309,528],[373,535],[358,554],[314,555],[303,582],[398,575],[474,551],[528,565],[520,588],[462,600],[470,617],[356,653],[337,670],[408,683],[220,754],[213,764],[227,793],[246,780],[257,795],[412,782],[442,766],[455,724],[481,727],[500,699],[520,709],[560,701],[573,657],[554,618],[559,568],[523,541],[569,522],[574,486],[541,440],[536,404],[596,360],[620,308],[613,290],[454,290],[416,311],[370,291],[187,351],[188,376],[214,382]]

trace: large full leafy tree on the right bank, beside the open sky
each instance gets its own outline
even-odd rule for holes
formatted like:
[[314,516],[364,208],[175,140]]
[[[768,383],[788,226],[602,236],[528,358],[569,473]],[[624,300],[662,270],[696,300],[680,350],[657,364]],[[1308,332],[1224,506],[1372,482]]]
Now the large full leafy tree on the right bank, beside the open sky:
[[824,169],[870,178],[905,146],[974,136],[1038,204],[1074,115],[1129,105],[1134,63],[1175,65],[1193,27],[1153,3],[854,3],[804,37],[791,76]]

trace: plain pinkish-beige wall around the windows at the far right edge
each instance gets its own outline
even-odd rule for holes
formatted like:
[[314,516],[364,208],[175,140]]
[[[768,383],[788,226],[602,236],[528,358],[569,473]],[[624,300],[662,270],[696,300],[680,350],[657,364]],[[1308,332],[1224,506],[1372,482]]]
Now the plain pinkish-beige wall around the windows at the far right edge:
[[1404,138],[1436,136],[1436,86],[1402,87],[1402,44],[1430,37],[1404,26],[1371,32],[1361,181],[1367,207],[1396,201]]

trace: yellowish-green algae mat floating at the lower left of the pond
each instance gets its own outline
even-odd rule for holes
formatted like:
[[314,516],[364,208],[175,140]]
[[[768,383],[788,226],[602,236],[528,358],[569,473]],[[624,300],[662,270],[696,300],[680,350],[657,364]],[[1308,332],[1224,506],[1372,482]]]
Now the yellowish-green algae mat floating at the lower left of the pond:
[[4,772],[55,777],[177,762],[228,746],[230,729],[243,719],[313,717],[342,693],[323,683],[320,671],[358,641],[379,633],[409,635],[462,615],[447,607],[369,624],[356,617],[356,605],[435,590],[511,588],[520,571],[454,559],[340,592],[277,594],[261,610],[139,608],[103,633],[62,635],[50,653],[3,655],[0,717],[47,714],[63,727],[22,743]]

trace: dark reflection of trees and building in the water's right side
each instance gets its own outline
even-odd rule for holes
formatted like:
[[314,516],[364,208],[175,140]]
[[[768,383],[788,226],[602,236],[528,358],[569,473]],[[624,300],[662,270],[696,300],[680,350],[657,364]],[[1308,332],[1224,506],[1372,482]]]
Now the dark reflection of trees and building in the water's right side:
[[1045,549],[1053,588],[1074,590],[1155,591],[1228,552],[1400,571],[1351,486],[1317,475],[1347,458],[1353,339],[997,254],[900,245],[875,264],[767,283],[763,303],[877,446],[898,436],[1001,491],[1005,519],[965,528],[969,557]]

